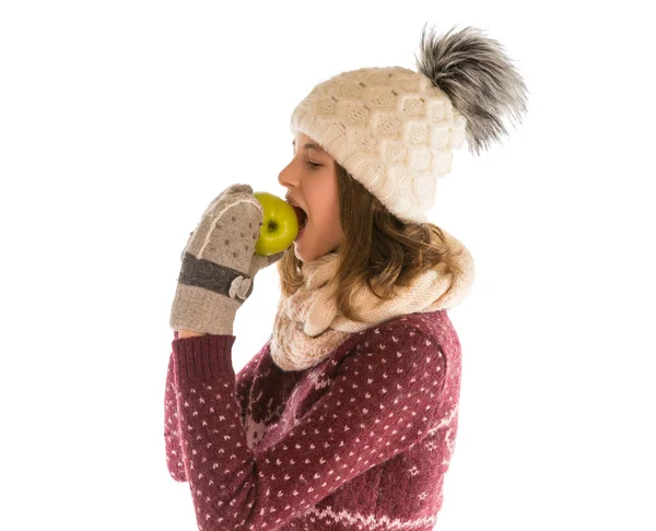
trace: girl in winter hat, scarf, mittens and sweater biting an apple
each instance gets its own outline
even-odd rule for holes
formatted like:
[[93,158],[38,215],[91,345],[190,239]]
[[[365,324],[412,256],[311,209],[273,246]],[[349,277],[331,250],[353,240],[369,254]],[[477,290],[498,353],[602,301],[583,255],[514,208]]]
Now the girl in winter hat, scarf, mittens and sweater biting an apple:
[[[422,34],[418,72],[365,68],[294,109],[280,173],[305,222],[285,251],[254,256],[261,206],[234,185],[183,253],[165,394],[174,480],[198,528],[433,529],[457,434],[460,344],[446,314],[471,255],[429,223],[436,179],[525,111],[496,42],[468,27]],[[278,262],[274,327],[239,371],[233,321]]]

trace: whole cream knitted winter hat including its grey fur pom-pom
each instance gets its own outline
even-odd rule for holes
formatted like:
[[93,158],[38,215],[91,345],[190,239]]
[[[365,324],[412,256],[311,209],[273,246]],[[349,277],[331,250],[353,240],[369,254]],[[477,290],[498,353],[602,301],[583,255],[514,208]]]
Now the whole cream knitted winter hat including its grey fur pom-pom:
[[292,134],[318,142],[403,222],[426,222],[437,179],[467,139],[479,154],[520,121],[526,86],[501,45],[473,27],[421,37],[418,72],[361,68],[316,85],[296,106]]

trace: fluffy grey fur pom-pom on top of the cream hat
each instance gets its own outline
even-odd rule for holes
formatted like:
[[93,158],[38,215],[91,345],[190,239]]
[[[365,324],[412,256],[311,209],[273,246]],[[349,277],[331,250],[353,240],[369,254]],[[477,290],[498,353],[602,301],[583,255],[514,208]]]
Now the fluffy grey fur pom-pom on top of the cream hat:
[[426,37],[424,25],[417,67],[465,117],[469,151],[478,155],[507,134],[504,115],[522,122],[528,91],[502,45],[478,28],[450,35],[454,28],[436,38],[433,33]]

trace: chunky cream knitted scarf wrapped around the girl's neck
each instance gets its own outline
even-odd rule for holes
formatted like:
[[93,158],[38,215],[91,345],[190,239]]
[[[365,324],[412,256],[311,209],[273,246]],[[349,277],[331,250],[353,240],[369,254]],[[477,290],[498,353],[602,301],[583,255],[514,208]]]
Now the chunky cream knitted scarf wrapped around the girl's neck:
[[[378,299],[368,288],[360,286],[353,297],[358,315],[365,321],[353,321],[337,315],[333,304],[337,252],[329,252],[303,263],[304,285],[278,303],[271,357],[282,370],[304,370],[330,355],[353,332],[365,330],[395,317],[453,308],[468,295],[475,278],[471,253],[460,240],[442,229],[447,244],[456,252],[462,274],[453,273],[440,264],[424,272],[408,287],[396,286],[397,295],[389,300]],[[450,286],[450,290],[449,290]]]

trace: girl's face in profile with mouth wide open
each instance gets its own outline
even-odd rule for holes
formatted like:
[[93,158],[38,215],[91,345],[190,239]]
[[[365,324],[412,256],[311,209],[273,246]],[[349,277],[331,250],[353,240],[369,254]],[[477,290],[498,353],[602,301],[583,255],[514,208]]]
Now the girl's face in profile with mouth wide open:
[[337,249],[343,238],[337,168],[332,156],[302,132],[293,140],[292,155],[278,181],[289,188],[286,194],[307,214],[305,228],[294,240],[294,253],[298,260],[309,262]]

